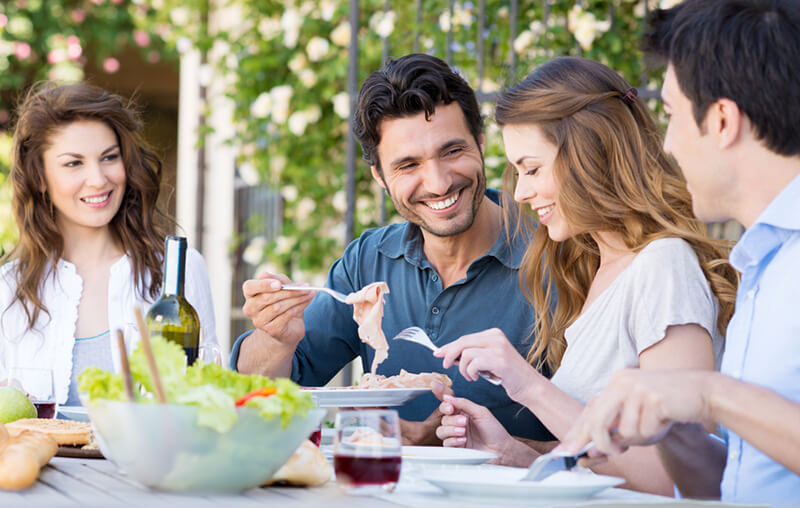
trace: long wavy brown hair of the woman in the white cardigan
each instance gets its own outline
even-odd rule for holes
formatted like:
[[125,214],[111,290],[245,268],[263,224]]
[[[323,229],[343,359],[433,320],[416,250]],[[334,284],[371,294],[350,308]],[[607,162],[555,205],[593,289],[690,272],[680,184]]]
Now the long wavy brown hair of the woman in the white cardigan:
[[[39,294],[49,270],[63,254],[64,240],[45,189],[43,153],[50,137],[75,121],[97,120],[116,134],[125,165],[126,186],[120,209],[109,224],[111,234],[130,256],[137,290],[156,298],[161,287],[165,226],[170,221],[157,206],[161,160],[142,136],[142,123],[131,103],[85,83],[31,88],[17,110],[10,180],[19,243],[2,262],[15,260],[16,292],[31,329],[39,313],[48,313]],[[149,283],[147,273],[149,271]],[[145,287],[146,284],[149,286]],[[5,310],[5,309],[4,309]]]

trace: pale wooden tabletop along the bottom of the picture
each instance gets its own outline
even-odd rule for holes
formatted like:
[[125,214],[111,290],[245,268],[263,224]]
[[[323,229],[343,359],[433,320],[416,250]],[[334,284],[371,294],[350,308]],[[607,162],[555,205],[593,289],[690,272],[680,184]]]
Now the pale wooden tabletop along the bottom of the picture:
[[[505,504],[505,503],[503,503]],[[554,506],[553,501],[535,501],[524,506]],[[560,503],[559,506],[698,506],[720,508],[718,502],[681,502],[673,499],[609,489],[590,501]],[[335,482],[322,487],[293,488],[269,487],[252,489],[235,495],[182,495],[160,492],[143,487],[119,472],[107,460],[55,457],[46,466],[39,481],[23,492],[0,491],[2,508],[206,508],[212,506],[231,508],[255,508],[263,506],[324,506],[325,508],[382,508],[398,506],[425,506],[442,508],[465,508],[497,506],[485,501],[463,501],[452,499],[437,492],[426,482],[401,478],[397,490],[379,497],[355,497],[344,494]],[[729,506],[729,505],[728,505]]]

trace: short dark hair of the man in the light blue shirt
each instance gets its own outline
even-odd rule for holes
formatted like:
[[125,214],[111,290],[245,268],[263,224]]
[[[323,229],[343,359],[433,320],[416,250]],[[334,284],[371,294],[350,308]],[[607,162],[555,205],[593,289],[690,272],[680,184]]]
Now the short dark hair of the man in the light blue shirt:
[[768,149],[800,155],[798,0],[686,0],[649,25],[644,50],[672,64],[698,126],[730,99]]

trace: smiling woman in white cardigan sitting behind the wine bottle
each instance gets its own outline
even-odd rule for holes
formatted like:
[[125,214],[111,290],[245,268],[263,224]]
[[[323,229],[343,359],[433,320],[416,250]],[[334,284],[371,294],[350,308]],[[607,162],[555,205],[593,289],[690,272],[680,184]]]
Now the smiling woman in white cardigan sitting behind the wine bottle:
[[[79,405],[84,367],[117,370],[110,332],[138,337],[134,305],[160,293],[170,221],[157,207],[162,163],[132,104],[84,83],[33,87],[17,110],[9,180],[19,243],[0,267],[0,379],[49,368],[56,402]],[[186,294],[216,342],[202,256]]]

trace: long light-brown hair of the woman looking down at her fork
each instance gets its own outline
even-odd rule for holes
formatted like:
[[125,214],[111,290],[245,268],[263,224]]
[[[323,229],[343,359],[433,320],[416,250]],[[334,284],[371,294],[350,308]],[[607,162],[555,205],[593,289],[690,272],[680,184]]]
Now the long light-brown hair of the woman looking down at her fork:
[[[733,314],[738,275],[727,261],[730,242],[712,239],[692,212],[691,195],[677,166],[662,150],[662,137],[644,102],[630,85],[600,63],[558,58],[537,68],[498,97],[502,127],[538,126],[557,149],[554,176],[558,203],[577,234],[555,242],[536,228],[520,270],[523,290],[536,309],[535,342],[528,360],[558,368],[564,332],[583,308],[600,265],[592,232],[622,235],[641,251],[658,238],[688,242],[720,305],[717,327],[724,334]],[[505,174],[513,193],[516,172]],[[532,226],[522,207],[505,207]],[[557,296],[556,296],[557,295]]]

